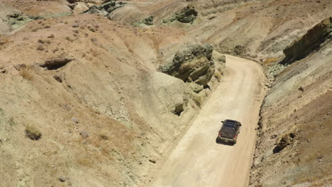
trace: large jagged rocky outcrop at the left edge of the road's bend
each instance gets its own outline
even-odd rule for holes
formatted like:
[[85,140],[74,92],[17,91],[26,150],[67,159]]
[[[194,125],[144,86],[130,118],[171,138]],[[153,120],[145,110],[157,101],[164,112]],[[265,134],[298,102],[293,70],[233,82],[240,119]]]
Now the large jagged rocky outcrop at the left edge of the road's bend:
[[160,72],[182,79],[207,85],[215,71],[211,45],[189,45],[175,54],[172,62],[160,67]]

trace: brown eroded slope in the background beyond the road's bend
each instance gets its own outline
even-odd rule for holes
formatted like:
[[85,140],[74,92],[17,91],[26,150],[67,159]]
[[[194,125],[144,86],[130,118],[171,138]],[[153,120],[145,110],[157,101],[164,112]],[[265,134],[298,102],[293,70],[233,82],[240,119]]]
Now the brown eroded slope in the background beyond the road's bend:
[[[199,12],[194,23],[164,23],[175,12],[192,5]],[[131,1],[111,13],[126,23],[154,16],[155,26],[182,28],[218,52],[255,60],[283,57],[282,50],[306,30],[331,16],[329,0],[278,1]]]

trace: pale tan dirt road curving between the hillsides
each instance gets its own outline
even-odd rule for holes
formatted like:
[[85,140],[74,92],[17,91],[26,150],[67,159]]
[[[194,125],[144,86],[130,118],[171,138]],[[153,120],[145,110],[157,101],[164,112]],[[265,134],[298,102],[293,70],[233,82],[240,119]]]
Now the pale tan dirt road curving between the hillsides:
[[[264,96],[260,65],[226,56],[227,74],[157,174],[155,187],[248,186],[255,128]],[[216,143],[221,120],[242,123],[238,143]]]

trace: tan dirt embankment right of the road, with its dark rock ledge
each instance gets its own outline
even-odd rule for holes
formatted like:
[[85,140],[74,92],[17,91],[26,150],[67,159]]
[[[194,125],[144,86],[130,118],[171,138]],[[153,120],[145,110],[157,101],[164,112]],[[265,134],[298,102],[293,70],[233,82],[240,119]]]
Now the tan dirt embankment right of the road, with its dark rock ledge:
[[327,18],[284,50],[288,66],[260,111],[250,186],[332,185],[331,33]]

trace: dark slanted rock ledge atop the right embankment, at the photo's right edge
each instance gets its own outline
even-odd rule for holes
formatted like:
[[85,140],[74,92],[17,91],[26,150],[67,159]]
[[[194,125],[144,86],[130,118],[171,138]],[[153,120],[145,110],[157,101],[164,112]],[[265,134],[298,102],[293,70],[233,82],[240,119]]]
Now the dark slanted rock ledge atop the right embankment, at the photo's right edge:
[[332,17],[327,18],[321,23],[314,26],[308,30],[308,32],[301,38],[298,38],[286,49],[284,49],[284,55],[286,56],[284,60],[285,63],[294,62],[295,60],[301,60],[309,53],[317,50],[319,45],[323,43],[328,38],[331,38],[332,32]]

